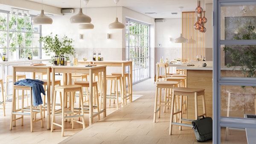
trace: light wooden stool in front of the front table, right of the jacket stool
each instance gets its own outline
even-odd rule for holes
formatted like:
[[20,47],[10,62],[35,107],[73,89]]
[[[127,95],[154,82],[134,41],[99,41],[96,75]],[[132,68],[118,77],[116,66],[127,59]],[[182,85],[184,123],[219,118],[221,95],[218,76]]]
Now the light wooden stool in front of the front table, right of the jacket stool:
[[[54,96],[53,96],[53,102],[52,102],[52,124],[51,124],[51,132],[55,129],[55,125],[61,127],[61,136],[64,136],[64,121],[66,119],[71,118],[71,124],[72,129],[74,129],[74,122],[77,122],[79,124],[83,125],[83,129],[85,128],[85,122],[84,122],[84,104],[83,104],[83,90],[82,86],[80,85],[63,85],[63,86],[54,86]],[[56,105],[56,92],[61,92],[63,97],[61,98],[62,101],[62,107],[61,109],[55,109]],[[65,101],[67,101],[67,92],[71,92],[71,103],[70,107],[65,107]],[[75,111],[74,109],[74,96],[75,92],[79,92],[79,99],[80,99],[80,105],[81,110]],[[55,116],[61,115],[61,124],[58,124],[55,122]],[[77,121],[74,118],[82,118],[81,121]]]

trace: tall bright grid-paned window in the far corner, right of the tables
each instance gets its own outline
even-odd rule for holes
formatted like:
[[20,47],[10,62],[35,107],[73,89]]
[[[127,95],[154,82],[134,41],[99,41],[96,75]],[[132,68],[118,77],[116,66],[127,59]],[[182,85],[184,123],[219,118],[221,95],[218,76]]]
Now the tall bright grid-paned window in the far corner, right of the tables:
[[133,60],[133,83],[149,78],[149,28],[126,19],[126,60]]

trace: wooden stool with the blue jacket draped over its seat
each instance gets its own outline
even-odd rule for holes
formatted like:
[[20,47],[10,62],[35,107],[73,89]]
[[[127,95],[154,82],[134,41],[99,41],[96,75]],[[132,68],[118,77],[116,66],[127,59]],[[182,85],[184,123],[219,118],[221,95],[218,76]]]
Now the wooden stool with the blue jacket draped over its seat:
[[[23,116],[27,115],[30,116],[30,131],[33,132],[33,123],[37,121],[41,121],[41,127],[44,127],[44,122],[43,122],[43,113],[42,113],[42,105],[39,104],[39,108],[33,107],[33,97],[32,97],[32,87],[30,86],[18,86],[18,85],[13,85],[13,89],[15,89],[15,92],[13,94],[13,101],[12,101],[12,112],[11,112],[11,123],[10,123],[10,130],[12,130],[12,126],[16,126],[16,121],[18,119],[21,119],[21,125],[23,126]],[[21,99],[21,108],[16,108],[16,90],[26,90],[29,91],[30,94],[30,101],[29,107],[24,107],[24,93],[22,93],[22,99]],[[35,115],[37,113],[40,113],[41,118],[35,119]],[[19,118],[16,118],[16,115],[21,115]]]

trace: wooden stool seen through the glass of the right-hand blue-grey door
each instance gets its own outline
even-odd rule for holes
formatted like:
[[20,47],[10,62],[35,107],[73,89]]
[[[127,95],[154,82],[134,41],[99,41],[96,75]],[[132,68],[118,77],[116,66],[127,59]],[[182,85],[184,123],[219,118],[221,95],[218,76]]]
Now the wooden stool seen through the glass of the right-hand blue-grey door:
[[[227,117],[230,116],[230,103],[231,103],[231,95],[252,95],[256,98],[255,90],[244,90],[244,89],[227,89],[228,99],[227,99]],[[232,105],[231,105],[232,106]],[[254,101],[254,112],[256,113],[256,101]],[[229,140],[229,127],[226,127],[226,141]],[[239,129],[240,130],[240,129]]]

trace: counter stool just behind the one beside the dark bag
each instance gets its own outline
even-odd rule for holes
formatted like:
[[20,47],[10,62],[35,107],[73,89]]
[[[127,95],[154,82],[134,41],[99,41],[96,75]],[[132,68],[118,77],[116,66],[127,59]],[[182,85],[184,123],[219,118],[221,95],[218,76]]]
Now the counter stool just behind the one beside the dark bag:
[[[171,99],[169,90],[173,89],[175,86],[177,86],[177,84],[178,84],[178,82],[176,82],[176,81],[158,81],[158,82],[156,82],[157,86],[156,86],[155,102],[154,102],[154,120],[153,120],[154,123],[156,122],[157,112],[158,112],[158,118],[160,118],[161,106],[164,107],[164,112],[165,112],[165,107],[171,103],[169,101]],[[158,95],[158,89],[160,89],[159,95]],[[161,97],[162,89],[165,89],[164,101],[162,100],[162,97]]]

